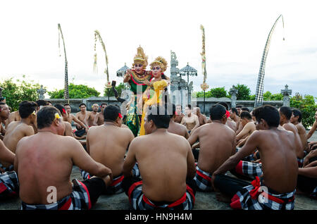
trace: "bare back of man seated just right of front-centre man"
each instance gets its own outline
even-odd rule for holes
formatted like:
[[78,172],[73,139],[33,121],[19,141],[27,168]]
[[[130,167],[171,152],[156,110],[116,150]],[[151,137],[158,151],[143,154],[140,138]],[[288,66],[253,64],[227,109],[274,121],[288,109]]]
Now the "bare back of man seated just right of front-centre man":
[[199,139],[198,164],[201,170],[213,173],[232,154],[235,154],[235,132],[216,122],[198,127],[189,137],[189,144]]

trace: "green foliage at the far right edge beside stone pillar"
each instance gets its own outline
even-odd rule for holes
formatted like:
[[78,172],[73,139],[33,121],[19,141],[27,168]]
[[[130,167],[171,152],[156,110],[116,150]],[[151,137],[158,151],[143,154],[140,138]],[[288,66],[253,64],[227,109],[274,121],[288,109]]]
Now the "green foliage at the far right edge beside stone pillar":
[[317,108],[317,104],[315,103],[313,96],[305,95],[303,97],[301,94],[297,93],[290,99],[290,106],[302,111],[302,124],[305,128],[313,125]]

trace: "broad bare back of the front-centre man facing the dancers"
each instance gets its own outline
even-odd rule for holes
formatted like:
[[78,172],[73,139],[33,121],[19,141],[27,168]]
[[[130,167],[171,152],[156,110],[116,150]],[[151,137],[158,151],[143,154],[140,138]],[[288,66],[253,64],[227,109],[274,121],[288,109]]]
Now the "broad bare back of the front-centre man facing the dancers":
[[135,138],[125,161],[137,161],[142,191],[153,201],[176,201],[186,192],[187,174],[194,177],[194,156],[187,140],[156,130]]

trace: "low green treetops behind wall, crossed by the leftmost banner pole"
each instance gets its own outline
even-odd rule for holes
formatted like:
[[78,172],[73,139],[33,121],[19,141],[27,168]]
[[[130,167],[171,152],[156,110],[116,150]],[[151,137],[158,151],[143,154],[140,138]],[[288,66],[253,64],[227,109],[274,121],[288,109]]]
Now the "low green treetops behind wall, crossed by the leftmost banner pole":
[[[96,89],[88,87],[87,85],[75,85],[70,83],[68,85],[68,92],[70,99],[85,99],[89,97],[99,97],[100,92]],[[51,99],[63,99],[64,98],[64,89],[54,90],[48,92]]]

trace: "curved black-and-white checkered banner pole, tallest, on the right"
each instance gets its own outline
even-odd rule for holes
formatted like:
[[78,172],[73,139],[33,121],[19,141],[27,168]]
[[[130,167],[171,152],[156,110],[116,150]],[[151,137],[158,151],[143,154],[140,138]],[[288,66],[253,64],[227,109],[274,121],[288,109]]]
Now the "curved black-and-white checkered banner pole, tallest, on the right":
[[[278,23],[278,20],[282,18],[282,25],[283,25],[283,30],[284,30],[284,20],[283,16],[280,15],[277,20],[275,20],[275,23],[273,27],[271,28],[271,31],[268,34],[268,39],[266,39],[266,46],[264,47],[262,59],[261,59],[261,65],[260,65],[260,70],[259,70],[259,76],[258,76],[258,82],[256,85],[256,98],[254,101],[254,107],[262,106],[263,104],[263,88],[264,88],[264,75],[265,75],[265,69],[266,69],[266,58],[268,56],[268,49],[270,48],[270,43],[271,43],[271,37],[273,35],[273,32],[275,30],[275,26]],[[283,37],[283,40],[285,38]]]

